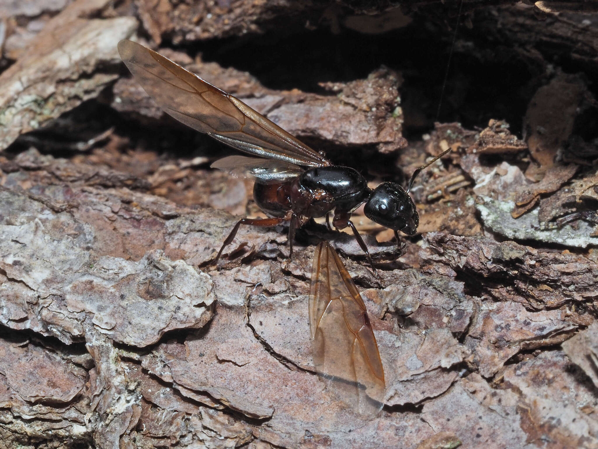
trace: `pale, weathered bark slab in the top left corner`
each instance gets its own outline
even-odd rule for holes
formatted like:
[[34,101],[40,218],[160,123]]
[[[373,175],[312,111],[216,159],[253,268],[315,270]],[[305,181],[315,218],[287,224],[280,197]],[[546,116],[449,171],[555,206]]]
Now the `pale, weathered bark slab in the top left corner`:
[[[116,43],[135,31],[133,17],[83,19],[106,0],[78,0],[54,17],[29,51],[0,74],[0,150],[82,101],[94,98],[117,75],[97,71],[118,64]],[[81,45],[81,42],[89,42]]]

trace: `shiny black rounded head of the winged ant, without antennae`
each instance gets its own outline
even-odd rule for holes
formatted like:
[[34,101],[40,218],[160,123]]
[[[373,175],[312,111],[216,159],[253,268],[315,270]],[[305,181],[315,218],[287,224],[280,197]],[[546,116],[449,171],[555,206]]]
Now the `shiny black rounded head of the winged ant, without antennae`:
[[365,203],[364,213],[373,222],[407,235],[415,235],[419,225],[413,200],[396,183],[382,183],[376,187]]

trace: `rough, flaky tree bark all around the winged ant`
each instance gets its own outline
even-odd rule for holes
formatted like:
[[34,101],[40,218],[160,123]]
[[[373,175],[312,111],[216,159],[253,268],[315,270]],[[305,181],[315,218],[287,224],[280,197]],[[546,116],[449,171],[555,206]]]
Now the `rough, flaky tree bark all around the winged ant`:
[[[0,448],[598,448],[592,8],[465,2],[439,118],[458,2],[0,5]],[[451,148],[411,192],[419,235],[355,211],[378,279],[321,221],[292,260],[285,227],[241,227],[216,269],[252,185],[209,169],[227,150],[157,108],[122,38],[372,185]],[[322,239],[377,339],[371,419],[313,368]]]

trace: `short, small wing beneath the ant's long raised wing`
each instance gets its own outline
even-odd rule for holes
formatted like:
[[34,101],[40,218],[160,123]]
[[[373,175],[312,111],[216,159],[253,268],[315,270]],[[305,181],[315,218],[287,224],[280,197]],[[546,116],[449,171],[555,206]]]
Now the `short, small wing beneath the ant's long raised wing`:
[[291,163],[247,156],[222,157],[212,163],[212,168],[227,171],[238,178],[251,178],[261,184],[283,183],[304,172]]

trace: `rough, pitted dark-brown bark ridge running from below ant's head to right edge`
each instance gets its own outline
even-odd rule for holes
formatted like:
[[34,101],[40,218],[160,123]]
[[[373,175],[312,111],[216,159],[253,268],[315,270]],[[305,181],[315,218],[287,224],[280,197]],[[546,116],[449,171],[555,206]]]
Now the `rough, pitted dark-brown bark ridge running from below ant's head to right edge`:
[[[499,301],[536,310],[592,301],[598,292],[596,262],[569,251],[539,251],[515,242],[429,233],[424,260],[446,263],[456,272],[487,278],[482,291]],[[493,284],[492,280],[498,281]]]

